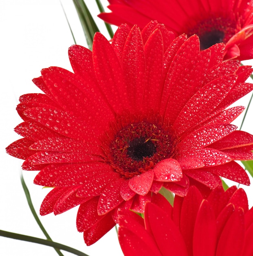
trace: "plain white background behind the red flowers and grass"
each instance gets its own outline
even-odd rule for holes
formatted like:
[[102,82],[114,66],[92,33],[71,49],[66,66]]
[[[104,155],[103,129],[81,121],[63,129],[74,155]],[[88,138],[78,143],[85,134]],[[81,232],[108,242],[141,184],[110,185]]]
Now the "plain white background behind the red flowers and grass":
[[[86,1],[99,28],[104,31],[103,22],[95,0]],[[106,7],[106,0],[101,1]],[[73,29],[77,44],[86,46],[85,37],[79,24],[75,7],[71,0],[62,4]],[[29,210],[20,182],[22,161],[5,153],[5,147],[19,139],[13,128],[22,120],[15,111],[20,95],[39,92],[31,79],[40,76],[44,67],[59,66],[71,70],[68,61],[68,47],[74,43],[59,0],[0,0],[0,229],[15,233],[44,238]],[[252,63],[249,61],[247,63]],[[249,101],[249,95],[236,105]],[[242,130],[253,133],[251,107],[250,114]],[[240,124],[241,117],[235,122]],[[29,187],[34,207],[39,213],[40,204],[48,193],[46,189],[34,185],[37,172],[23,171]],[[251,183],[252,179],[251,179]],[[232,183],[229,182],[231,185]],[[241,186],[244,187],[245,186]],[[249,203],[253,205],[253,189],[246,188]],[[77,207],[59,216],[53,213],[40,217],[51,238],[90,256],[123,255],[116,231],[112,229],[95,245],[86,247],[83,236],[77,232],[75,218]],[[62,251],[65,256],[73,255]],[[3,256],[45,256],[57,255],[51,247],[37,245],[10,238],[0,237],[0,255]]]

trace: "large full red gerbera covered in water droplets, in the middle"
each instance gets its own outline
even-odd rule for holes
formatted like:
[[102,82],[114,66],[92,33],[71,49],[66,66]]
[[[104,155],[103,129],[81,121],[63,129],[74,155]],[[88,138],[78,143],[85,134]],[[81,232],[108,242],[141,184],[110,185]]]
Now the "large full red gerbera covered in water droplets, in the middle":
[[97,33],[92,52],[73,45],[73,73],[42,70],[33,81],[45,94],[20,98],[24,138],[7,148],[40,170],[35,184],[54,187],[40,213],[80,204],[77,229],[90,245],[114,226],[117,207],[143,212],[162,186],[209,192],[219,175],[248,185],[233,160],[253,159],[253,136],[230,124],[244,108],[226,108],[253,89],[244,83],[252,70],[223,54],[223,44],[200,52],[197,36],[174,39],[151,22],[119,27],[112,44]]

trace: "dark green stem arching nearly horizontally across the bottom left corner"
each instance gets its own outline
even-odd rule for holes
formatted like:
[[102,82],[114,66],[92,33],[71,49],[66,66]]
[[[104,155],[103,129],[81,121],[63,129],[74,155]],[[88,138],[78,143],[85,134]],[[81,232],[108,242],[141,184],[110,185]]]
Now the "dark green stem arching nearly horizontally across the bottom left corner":
[[33,236],[26,236],[26,235],[12,233],[12,232],[8,232],[8,231],[4,231],[4,230],[0,230],[0,236],[13,238],[13,239],[17,239],[17,240],[22,240],[22,241],[27,241],[27,242],[31,242],[31,243],[37,243],[40,245],[51,246],[51,247],[54,247],[57,249],[62,249],[66,252],[70,252],[77,256],[88,256],[87,254],[84,254],[83,252],[80,252],[77,249],[74,249],[74,248],[68,247],[66,245],[59,244],[59,243],[55,243],[53,241],[48,241],[45,239],[33,237]]

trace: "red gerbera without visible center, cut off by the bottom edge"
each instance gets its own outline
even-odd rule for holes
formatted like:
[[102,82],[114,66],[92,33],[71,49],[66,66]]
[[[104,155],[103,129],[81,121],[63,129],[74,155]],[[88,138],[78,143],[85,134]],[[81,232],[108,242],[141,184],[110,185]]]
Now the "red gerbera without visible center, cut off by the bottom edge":
[[152,198],[155,203],[147,202],[144,220],[119,211],[125,256],[253,255],[253,208],[243,189],[218,187],[203,199],[191,186],[185,198],[175,197],[174,207],[158,195]]

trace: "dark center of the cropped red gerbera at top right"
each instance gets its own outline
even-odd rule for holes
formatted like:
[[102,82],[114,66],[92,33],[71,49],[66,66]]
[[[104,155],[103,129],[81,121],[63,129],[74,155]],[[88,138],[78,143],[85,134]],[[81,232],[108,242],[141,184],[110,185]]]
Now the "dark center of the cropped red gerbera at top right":
[[210,18],[202,20],[189,29],[188,36],[197,34],[200,39],[200,49],[204,50],[216,43],[227,43],[240,30],[236,20],[229,18]]

